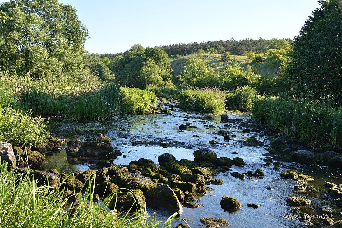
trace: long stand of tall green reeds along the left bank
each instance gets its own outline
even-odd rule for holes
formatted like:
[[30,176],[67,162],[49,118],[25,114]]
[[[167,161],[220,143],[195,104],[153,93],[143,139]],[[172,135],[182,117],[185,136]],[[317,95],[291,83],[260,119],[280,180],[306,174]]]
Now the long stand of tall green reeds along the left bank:
[[104,120],[123,114],[143,114],[156,105],[156,96],[137,88],[122,88],[115,80],[51,83],[3,75],[0,106],[9,104],[39,116],[64,116],[73,121]]

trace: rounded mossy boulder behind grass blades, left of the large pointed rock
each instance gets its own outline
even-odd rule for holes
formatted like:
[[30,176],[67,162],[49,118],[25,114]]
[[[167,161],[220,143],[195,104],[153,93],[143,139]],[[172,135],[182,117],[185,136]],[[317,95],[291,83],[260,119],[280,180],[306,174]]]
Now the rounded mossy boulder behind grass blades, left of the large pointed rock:
[[145,196],[140,189],[132,189],[130,192],[119,192],[118,199],[114,197],[109,203],[110,210],[136,212],[145,206]]

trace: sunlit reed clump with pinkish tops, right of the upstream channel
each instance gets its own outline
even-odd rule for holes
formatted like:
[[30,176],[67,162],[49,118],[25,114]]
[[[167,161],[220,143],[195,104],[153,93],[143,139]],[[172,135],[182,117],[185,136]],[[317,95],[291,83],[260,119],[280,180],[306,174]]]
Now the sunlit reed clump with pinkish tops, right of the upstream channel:
[[179,95],[179,107],[212,114],[222,114],[225,110],[224,93],[211,89],[182,90]]

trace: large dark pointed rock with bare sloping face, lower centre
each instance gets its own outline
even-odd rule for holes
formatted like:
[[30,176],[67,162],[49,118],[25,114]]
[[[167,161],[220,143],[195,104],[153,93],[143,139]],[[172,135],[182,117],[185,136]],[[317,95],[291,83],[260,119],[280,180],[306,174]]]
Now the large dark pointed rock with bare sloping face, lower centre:
[[166,210],[172,214],[177,212],[177,216],[181,216],[183,212],[181,203],[168,185],[159,185],[149,189],[146,193],[146,202],[149,207]]

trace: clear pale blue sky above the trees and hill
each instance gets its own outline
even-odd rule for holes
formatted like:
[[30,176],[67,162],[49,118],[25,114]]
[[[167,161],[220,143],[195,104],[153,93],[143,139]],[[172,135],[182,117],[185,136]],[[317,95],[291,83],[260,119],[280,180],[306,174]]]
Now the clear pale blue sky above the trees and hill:
[[[0,0],[0,2],[4,2]],[[211,40],[294,38],[316,0],[60,0],[90,32],[89,52]]]

